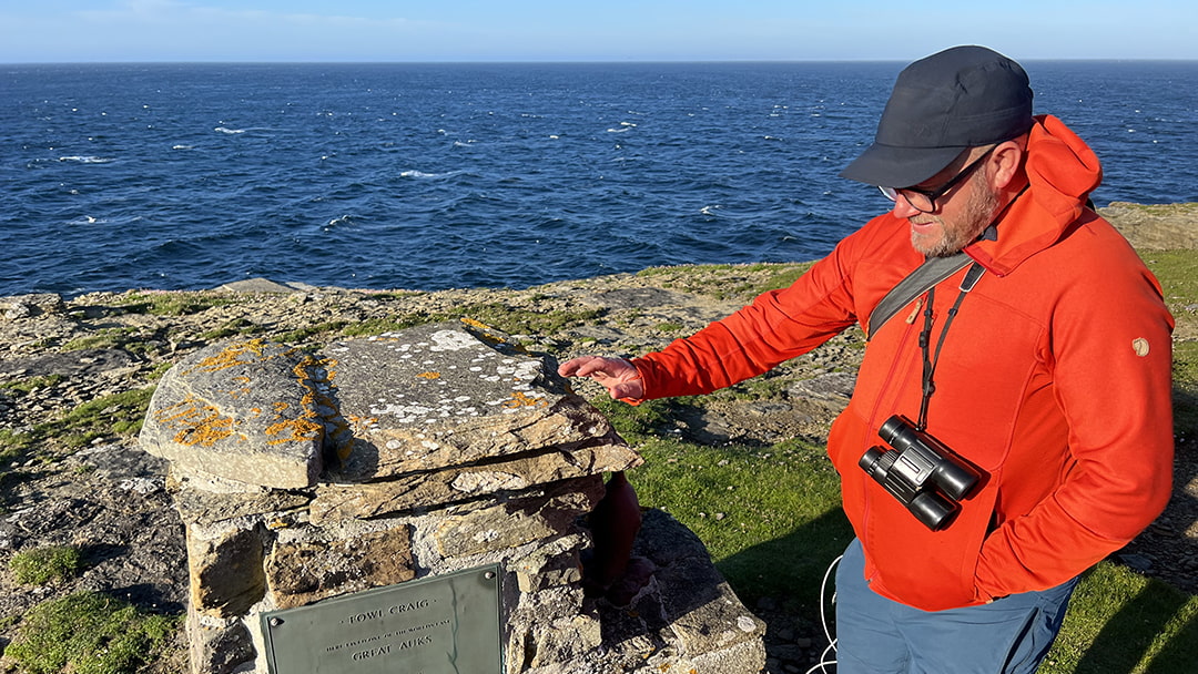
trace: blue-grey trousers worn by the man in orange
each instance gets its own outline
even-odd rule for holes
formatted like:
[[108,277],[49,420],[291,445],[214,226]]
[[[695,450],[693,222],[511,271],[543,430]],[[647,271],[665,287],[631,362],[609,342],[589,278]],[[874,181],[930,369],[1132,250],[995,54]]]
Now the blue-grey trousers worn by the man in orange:
[[861,542],[836,569],[837,674],[1030,674],[1065,618],[1077,578],[984,606],[920,611],[870,590]]

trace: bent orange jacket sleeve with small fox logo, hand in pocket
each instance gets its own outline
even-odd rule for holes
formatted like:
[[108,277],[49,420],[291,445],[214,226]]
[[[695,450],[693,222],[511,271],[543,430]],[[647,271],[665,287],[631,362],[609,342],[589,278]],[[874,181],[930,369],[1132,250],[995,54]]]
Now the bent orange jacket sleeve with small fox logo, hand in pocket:
[[1156,279],[1138,260],[1123,262],[1126,274],[1108,267],[1070,284],[1054,312],[1045,357],[1072,462],[1054,492],[986,539],[980,600],[1077,576],[1131,541],[1169,499],[1173,318]]

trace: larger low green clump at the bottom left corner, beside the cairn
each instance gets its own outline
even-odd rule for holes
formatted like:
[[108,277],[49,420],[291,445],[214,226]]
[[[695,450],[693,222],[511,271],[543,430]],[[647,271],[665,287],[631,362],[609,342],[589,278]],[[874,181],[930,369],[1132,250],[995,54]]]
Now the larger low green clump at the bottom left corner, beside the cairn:
[[5,656],[23,674],[128,674],[152,662],[179,624],[99,593],[75,593],[31,608]]

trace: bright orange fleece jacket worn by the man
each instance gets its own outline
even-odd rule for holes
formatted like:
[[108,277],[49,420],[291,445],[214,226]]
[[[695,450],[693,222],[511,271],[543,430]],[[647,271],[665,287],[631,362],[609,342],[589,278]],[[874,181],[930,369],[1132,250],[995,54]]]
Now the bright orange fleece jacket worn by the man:
[[[922,316],[870,335],[828,451],[875,591],[926,611],[1058,585],[1119,549],[1164,508],[1173,466],[1173,317],[1127,242],[1093,211],[1099,160],[1037,117],[1029,189],[966,248],[986,273],[936,370],[927,432],[984,473],[956,521],[932,532],[858,466],[891,414],[919,414]],[[887,213],[810,272],[658,353],[634,359],[646,397],[707,393],[800,356],[849,326],[922,262]],[[934,293],[932,344],[961,271]]]

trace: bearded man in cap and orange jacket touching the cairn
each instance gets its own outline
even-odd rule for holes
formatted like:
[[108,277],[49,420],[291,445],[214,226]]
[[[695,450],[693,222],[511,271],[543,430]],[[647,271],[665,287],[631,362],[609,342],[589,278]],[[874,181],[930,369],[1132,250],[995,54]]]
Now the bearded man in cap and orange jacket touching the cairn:
[[[1168,500],[1173,318],[1087,207],[1094,152],[1033,117],[1023,68],[990,49],[904,68],[841,175],[894,206],[794,285],[661,352],[559,371],[634,403],[707,393],[860,323],[857,388],[828,438],[857,534],[837,569],[837,672],[1034,672],[1078,575]],[[927,478],[942,463],[960,484]]]

